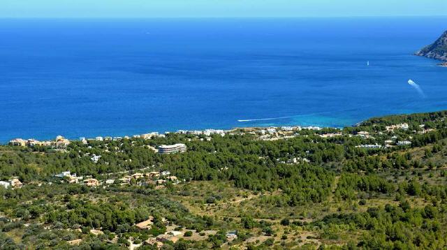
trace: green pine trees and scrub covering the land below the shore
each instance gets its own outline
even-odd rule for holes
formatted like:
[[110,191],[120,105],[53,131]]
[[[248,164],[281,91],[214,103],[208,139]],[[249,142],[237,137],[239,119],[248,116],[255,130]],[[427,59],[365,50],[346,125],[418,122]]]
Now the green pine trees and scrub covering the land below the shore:
[[[446,117],[374,118],[278,140],[260,140],[254,129],[72,142],[63,151],[1,146],[1,179],[24,186],[0,188],[0,249],[121,249],[172,228],[182,237],[165,249],[445,249]],[[409,128],[386,129],[402,123]],[[322,136],[330,133],[339,134]],[[177,142],[188,152],[151,149]],[[181,182],[90,188],[54,177],[67,170],[100,182],[169,170]],[[152,228],[135,226],[149,218]],[[226,237],[232,230],[236,240]]]

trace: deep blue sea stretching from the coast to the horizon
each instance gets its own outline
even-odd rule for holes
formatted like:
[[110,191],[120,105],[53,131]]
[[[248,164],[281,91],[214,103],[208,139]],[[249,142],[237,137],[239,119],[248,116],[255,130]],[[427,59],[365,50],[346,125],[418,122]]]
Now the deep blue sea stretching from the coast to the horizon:
[[0,20],[0,142],[447,109],[447,68],[412,55],[446,29],[447,17]]

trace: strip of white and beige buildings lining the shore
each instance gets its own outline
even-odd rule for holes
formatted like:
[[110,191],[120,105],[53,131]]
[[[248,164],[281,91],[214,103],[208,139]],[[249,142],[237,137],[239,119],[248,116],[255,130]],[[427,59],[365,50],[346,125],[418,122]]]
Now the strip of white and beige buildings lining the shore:
[[[429,133],[431,131],[434,131],[433,128],[425,128],[424,124],[421,124],[420,129],[418,131],[414,131],[418,134],[423,133]],[[421,130],[422,129],[422,130]],[[300,136],[302,133],[300,131],[316,131],[315,135],[320,136],[321,138],[337,138],[341,136],[359,136],[363,139],[368,139],[369,143],[358,145],[357,147],[366,148],[366,149],[380,149],[382,147],[395,147],[395,146],[409,146],[411,145],[411,137],[410,138],[400,138],[401,140],[397,140],[397,137],[394,136],[395,131],[397,130],[403,130],[408,131],[409,130],[409,124],[402,123],[402,124],[393,124],[386,126],[383,131],[379,131],[378,133],[374,133],[374,135],[370,135],[371,132],[368,131],[355,131],[353,133],[345,133],[343,130],[337,129],[337,128],[330,128],[327,132],[324,131],[323,128],[319,126],[281,126],[281,127],[249,127],[249,128],[234,128],[231,130],[221,130],[221,129],[205,129],[204,131],[185,131],[185,130],[179,130],[174,133],[182,134],[182,135],[196,135],[197,138],[200,140],[212,140],[213,135],[220,135],[225,136],[227,134],[229,135],[236,135],[236,134],[251,134],[255,135],[258,140],[284,140],[289,138],[295,138],[297,136]],[[165,138],[167,134],[170,132],[166,132],[165,134],[161,134],[158,132],[151,132],[151,133],[144,133],[141,135],[133,135],[131,137],[124,136],[124,137],[102,137],[98,136],[96,138],[80,138],[80,141],[88,145],[90,141],[117,141],[117,140],[130,140],[132,138],[141,138],[143,140],[150,140],[153,138]],[[384,133],[388,135],[393,135],[392,138],[388,138],[382,142],[376,142],[376,138],[374,136],[376,135],[383,135]],[[205,137],[204,137],[205,136]],[[303,136],[308,136],[307,133]],[[193,140],[191,138],[188,138],[189,141]],[[373,142],[373,143],[370,143]],[[70,140],[64,138],[63,136],[59,135],[54,140],[45,140],[45,141],[38,141],[35,139],[28,139],[23,140],[21,138],[17,138],[14,140],[10,140],[9,145],[13,146],[21,146],[21,147],[49,147],[52,149],[66,149],[66,147],[70,144]],[[173,145],[159,145],[158,147],[152,147],[150,145],[147,145],[149,149],[152,149],[154,152],[158,152],[159,154],[175,154],[175,153],[184,153],[187,150],[187,147],[183,143],[176,143]],[[94,163],[98,163],[98,161],[101,159],[101,156],[91,155],[91,161]]]

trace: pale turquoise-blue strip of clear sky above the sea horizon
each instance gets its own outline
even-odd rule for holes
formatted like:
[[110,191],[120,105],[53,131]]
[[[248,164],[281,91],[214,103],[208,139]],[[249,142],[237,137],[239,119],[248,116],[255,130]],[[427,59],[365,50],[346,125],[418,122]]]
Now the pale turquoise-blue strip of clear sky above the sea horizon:
[[447,15],[447,0],[0,0],[0,17],[362,17]]

